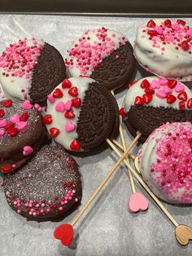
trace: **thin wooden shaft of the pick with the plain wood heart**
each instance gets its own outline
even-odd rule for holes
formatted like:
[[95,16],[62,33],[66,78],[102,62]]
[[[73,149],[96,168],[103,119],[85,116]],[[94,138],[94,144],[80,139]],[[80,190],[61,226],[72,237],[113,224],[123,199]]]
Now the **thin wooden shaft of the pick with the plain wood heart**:
[[[107,141],[109,143],[109,141]],[[116,148],[116,146],[111,143],[109,143],[110,147],[116,152],[116,154],[120,157],[121,153]],[[125,165],[129,168],[129,170],[132,172],[132,174],[135,176],[135,178],[138,180],[139,183],[141,183],[142,187],[145,188],[146,192],[152,197],[152,199],[155,201],[155,203],[159,206],[159,208],[164,212],[164,214],[169,218],[169,220],[172,222],[172,224],[177,227],[179,224],[175,220],[175,218],[172,217],[172,215],[168,212],[168,210],[164,207],[164,205],[159,201],[159,199],[155,196],[153,192],[151,192],[151,189],[146,185],[146,183],[142,180],[139,174],[137,174],[136,170],[133,170],[132,166],[130,166],[129,162],[124,160]]]

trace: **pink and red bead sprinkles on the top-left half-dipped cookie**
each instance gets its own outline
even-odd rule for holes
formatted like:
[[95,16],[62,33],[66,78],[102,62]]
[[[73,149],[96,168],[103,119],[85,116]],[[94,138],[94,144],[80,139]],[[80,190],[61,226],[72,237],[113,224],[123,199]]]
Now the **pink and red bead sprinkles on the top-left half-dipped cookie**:
[[10,44],[0,57],[0,67],[3,68],[3,76],[25,77],[29,75],[37,65],[37,58],[41,55],[42,45],[37,46],[37,40],[32,38],[33,46],[27,46],[27,38]]

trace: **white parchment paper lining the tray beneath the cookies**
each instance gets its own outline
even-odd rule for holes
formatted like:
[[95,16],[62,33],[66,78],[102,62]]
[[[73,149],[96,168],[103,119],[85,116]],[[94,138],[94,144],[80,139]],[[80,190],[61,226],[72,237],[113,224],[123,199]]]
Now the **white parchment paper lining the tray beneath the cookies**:
[[[146,18],[89,16],[89,15],[0,15],[0,51],[8,43],[20,38],[36,36],[53,44],[66,55],[66,50],[73,39],[85,29],[106,26],[116,29],[128,36],[130,42],[135,39],[138,25]],[[192,19],[186,19],[192,25]],[[137,78],[142,77],[138,68]],[[116,99],[121,106],[125,91],[118,91]],[[133,139],[124,127],[127,143]],[[137,147],[133,148],[137,154]],[[108,171],[117,160],[110,148],[90,152],[89,156],[74,156],[81,167],[83,178],[83,197],[81,206],[103,181]],[[1,178],[0,178],[1,180]],[[136,182],[137,184],[137,182]],[[149,198],[142,187],[137,190],[146,195],[150,201],[145,213],[130,214],[127,202],[131,195],[129,178],[124,166],[120,166],[97,196],[94,203],[86,210],[83,218],[76,225],[75,242],[70,248],[63,247],[53,237],[58,223],[26,222],[15,214],[7,205],[2,188],[0,188],[0,256],[97,256],[97,255],[154,255],[170,256],[191,255],[192,245],[183,248],[177,244],[174,227]],[[190,207],[166,205],[179,223],[192,226]],[[81,207],[80,207],[81,209]],[[68,216],[63,223],[70,223],[78,210]]]

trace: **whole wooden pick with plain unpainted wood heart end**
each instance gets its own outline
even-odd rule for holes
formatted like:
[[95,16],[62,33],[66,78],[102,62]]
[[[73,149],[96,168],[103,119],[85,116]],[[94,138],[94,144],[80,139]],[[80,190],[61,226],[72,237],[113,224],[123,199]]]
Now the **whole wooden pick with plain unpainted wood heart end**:
[[[116,152],[116,154],[120,157],[121,154],[119,150],[116,148],[116,146],[109,142],[111,148]],[[137,157],[136,157],[137,159]],[[137,161],[137,160],[136,160]],[[164,212],[164,214],[168,217],[168,219],[172,222],[172,224],[176,227],[175,229],[175,236],[177,238],[177,241],[180,243],[180,245],[188,245],[189,241],[192,240],[192,228],[188,227],[186,225],[182,225],[177,223],[176,219],[172,217],[172,214],[168,212],[168,210],[164,207],[164,205],[159,201],[157,196],[153,192],[151,192],[151,189],[146,185],[146,183],[142,180],[139,174],[137,174],[136,170],[133,170],[132,166],[130,166],[129,162],[124,160],[124,163],[129,168],[129,170],[132,172],[132,174],[135,176],[137,181],[141,183],[142,187],[145,188],[146,192],[151,196],[151,198],[155,201],[156,205],[159,206],[160,210]]]

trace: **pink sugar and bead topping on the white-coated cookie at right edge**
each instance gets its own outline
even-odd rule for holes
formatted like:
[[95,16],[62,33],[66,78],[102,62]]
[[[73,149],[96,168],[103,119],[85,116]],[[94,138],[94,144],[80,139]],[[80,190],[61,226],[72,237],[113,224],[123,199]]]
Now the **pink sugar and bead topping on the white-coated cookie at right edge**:
[[171,132],[156,139],[158,147],[155,163],[151,165],[151,177],[169,198],[187,203],[192,201],[191,126],[182,123],[169,126]]

